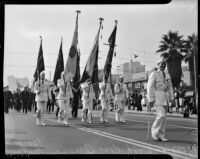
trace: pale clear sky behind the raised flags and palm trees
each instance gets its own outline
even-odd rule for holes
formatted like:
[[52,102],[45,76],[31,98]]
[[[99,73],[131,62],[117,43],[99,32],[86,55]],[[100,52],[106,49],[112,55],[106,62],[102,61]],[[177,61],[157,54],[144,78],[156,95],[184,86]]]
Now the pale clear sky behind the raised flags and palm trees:
[[[178,31],[186,39],[197,34],[197,0],[172,0],[158,5],[5,5],[4,30],[4,85],[7,76],[27,77],[30,81],[36,69],[40,38],[43,39],[43,56],[47,79],[53,79],[61,36],[63,37],[64,63],[75,29],[76,10],[80,10],[78,41],[81,51],[81,75],[99,28],[104,18],[99,43],[99,69],[105,65],[108,38],[118,21],[116,54],[112,73],[125,62],[140,61],[146,71],[156,66],[160,41],[169,30]],[[133,58],[136,54],[138,57]]]

